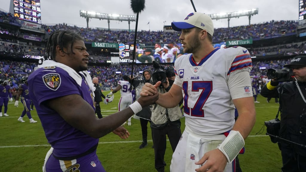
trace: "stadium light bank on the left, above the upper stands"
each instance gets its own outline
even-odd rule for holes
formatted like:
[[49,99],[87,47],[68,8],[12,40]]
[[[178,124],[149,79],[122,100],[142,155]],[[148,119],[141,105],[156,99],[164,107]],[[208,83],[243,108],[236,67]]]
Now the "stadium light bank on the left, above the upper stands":
[[105,14],[105,13],[96,13],[92,11],[84,11],[80,10],[80,17],[86,18],[87,28],[89,18],[97,18],[99,20],[107,20],[108,22],[108,30],[110,30],[110,20],[117,20],[117,21],[128,21],[129,22],[129,31],[130,31],[130,22],[136,21],[136,16],[133,15],[119,15],[119,14]]

